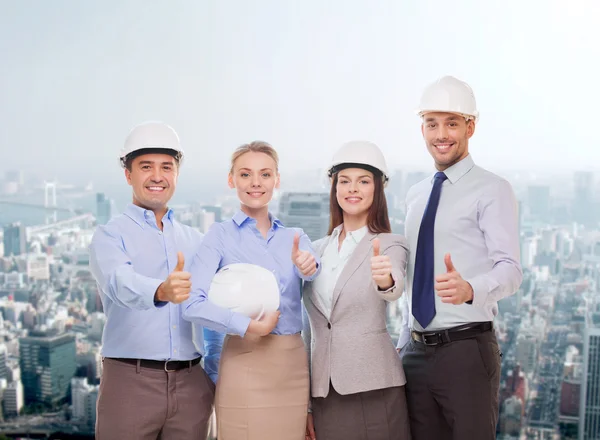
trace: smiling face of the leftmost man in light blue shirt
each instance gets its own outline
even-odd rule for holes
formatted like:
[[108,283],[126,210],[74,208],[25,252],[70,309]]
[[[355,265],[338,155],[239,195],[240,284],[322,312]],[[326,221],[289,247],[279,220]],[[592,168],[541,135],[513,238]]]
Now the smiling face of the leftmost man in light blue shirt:
[[142,154],[125,169],[127,183],[133,189],[133,203],[157,212],[166,210],[177,186],[178,166],[168,154]]

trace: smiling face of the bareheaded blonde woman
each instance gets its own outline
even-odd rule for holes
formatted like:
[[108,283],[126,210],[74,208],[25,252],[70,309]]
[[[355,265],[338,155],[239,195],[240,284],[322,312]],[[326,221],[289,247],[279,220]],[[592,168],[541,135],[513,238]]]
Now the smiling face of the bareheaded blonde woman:
[[237,190],[246,214],[268,209],[273,190],[279,188],[277,164],[266,153],[249,151],[235,159],[228,183]]

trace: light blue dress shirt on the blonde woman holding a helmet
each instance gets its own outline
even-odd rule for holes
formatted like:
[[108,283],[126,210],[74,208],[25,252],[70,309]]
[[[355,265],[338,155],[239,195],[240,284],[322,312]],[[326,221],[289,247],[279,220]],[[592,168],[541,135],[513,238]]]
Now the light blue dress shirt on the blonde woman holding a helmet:
[[[211,227],[190,268],[192,295],[184,303],[185,319],[222,333],[244,336],[250,318],[211,303],[207,292],[221,267],[250,263],[273,272],[279,283],[281,316],[273,334],[291,335],[302,330],[302,280],[312,281],[319,274],[320,260],[302,229],[286,228],[277,218],[271,215],[270,218],[271,228],[266,239],[257,229],[256,220],[242,211]],[[310,251],[317,261],[317,271],[310,277],[302,276],[292,262],[295,234],[300,236],[299,249]]]

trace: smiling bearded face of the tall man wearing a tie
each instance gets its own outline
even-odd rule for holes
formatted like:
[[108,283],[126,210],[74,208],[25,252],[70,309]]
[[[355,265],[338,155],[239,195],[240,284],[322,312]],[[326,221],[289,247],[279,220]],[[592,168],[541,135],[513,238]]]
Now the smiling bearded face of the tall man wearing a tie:
[[426,113],[421,132],[436,168],[444,171],[469,154],[475,122],[454,113]]

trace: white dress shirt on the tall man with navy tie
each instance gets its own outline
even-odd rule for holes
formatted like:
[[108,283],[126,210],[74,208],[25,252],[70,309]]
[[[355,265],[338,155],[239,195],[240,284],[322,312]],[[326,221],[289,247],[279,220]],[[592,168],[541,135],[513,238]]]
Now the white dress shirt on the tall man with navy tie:
[[[446,272],[444,255],[473,287],[472,304],[445,304],[435,294],[436,315],[426,330],[493,321],[498,300],[521,285],[517,200],[505,179],[474,164],[468,155],[444,171],[434,227],[434,276]],[[412,316],[415,250],[433,176],[410,188],[406,196],[406,239],[411,249],[407,271],[410,328],[423,328]]]

